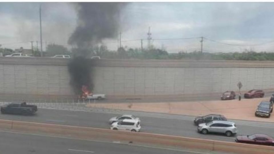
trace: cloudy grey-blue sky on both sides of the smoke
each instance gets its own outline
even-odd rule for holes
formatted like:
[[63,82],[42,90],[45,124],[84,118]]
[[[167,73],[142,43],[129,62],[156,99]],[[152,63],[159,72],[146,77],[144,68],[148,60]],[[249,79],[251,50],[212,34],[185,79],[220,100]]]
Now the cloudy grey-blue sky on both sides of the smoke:
[[[77,26],[73,3],[1,3],[0,44],[7,48],[31,48],[40,40],[39,5],[42,4],[42,35],[45,42],[67,44]],[[252,49],[274,50],[274,3],[129,3],[121,10],[120,29],[123,46],[147,47],[148,27],[153,45],[169,52],[200,50],[201,38],[207,52],[234,52]],[[164,38],[193,38],[157,40]],[[117,49],[117,39],[103,42]],[[217,41],[217,42],[214,42]],[[270,42],[270,43],[267,43]],[[221,44],[224,43],[224,44]],[[230,45],[227,45],[230,44]],[[257,45],[254,45],[257,44]],[[38,46],[40,46],[38,44]],[[45,48],[44,48],[45,49]]]

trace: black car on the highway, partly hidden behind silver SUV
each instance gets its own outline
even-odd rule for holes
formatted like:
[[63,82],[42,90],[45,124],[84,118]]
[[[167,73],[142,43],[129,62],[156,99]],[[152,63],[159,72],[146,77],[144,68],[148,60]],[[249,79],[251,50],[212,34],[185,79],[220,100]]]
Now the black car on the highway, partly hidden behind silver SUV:
[[227,119],[223,115],[209,114],[209,115],[202,116],[202,117],[196,117],[194,119],[194,124],[199,125],[200,123],[207,123],[207,122],[210,122],[210,121],[213,121],[213,120],[227,121]]

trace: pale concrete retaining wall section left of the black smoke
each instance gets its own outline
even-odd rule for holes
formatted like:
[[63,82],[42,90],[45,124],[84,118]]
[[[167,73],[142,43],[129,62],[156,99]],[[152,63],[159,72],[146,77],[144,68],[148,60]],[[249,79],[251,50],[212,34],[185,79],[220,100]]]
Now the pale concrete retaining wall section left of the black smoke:
[[67,61],[0,58],[0,94],[71,95]]

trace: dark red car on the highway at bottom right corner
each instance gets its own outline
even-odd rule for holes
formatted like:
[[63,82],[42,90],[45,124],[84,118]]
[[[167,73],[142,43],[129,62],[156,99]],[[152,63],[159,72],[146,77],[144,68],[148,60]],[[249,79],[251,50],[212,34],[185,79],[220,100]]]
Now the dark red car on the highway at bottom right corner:
[[265,134],[253,134],[246,136],[237,136],[235,139],[238,143],[249,143],[258,145],[271,145],[274,146],[274,139]]

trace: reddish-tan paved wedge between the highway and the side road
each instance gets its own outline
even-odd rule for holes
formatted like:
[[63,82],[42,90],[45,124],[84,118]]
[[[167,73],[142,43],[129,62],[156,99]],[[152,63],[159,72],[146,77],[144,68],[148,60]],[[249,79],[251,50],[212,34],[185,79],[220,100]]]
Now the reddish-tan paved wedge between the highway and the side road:
[[[257,105],[269,97],[239,100],[217,100],[196,102],[159,102],[159,103],[104,103],[88,104],[87,107],[133,110],[168,114],[203,116],[206,114],[222,114],[228,119],[274,122],[270,118],[255,117]],[[274,112],[273,112],[274,113]]]

